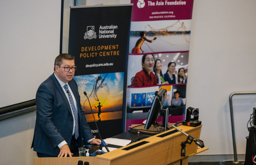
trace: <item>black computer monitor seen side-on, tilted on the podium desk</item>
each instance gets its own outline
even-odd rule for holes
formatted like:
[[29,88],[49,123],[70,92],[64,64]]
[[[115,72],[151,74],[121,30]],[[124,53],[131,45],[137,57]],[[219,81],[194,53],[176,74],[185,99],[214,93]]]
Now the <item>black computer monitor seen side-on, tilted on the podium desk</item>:
[[160,89],[159,92],[156,91],[152,106],[148,113],[148,118],[147,118],[144,129],[149,129],[150,126],[155,123],[158,117],[159,111],[161,110],[161,108],[163,108],[165,92],[166,90],[163,88]]

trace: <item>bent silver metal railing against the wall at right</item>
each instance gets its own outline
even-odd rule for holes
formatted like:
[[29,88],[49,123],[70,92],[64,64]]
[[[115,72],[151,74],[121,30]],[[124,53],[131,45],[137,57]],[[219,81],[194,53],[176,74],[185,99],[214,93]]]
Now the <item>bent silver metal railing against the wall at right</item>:
[[229,106],[230,106],[230,117],[231,117],[231,127],[232,127],[232,137],[233,137],[233,149],[234,149],[234,161],[233,163],[239,163],[237,161],[237,152],[236,152],[236,136],[234,132],[234,115],[233,115],[233,104],[232,104],[232,97],[234,95],[252,95],[256,94],[256,92],[233,92],[229,96]]

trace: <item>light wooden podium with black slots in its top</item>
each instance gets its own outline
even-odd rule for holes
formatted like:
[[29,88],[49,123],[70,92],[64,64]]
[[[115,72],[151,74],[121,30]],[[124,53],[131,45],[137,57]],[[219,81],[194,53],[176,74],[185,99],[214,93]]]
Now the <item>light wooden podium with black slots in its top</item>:
[[[189,127],[181,125],[178,128],[199,139],[202,125]],[[89,165],[180,165],[181,142],[187,136],[176,129],[171,129],[157,135],[129,144],[95,157],[53,157],[34,158],[34,165],[77,165],[79,160],[89,162]],[[188,157],[207,150],[198,148],[193,142],[186,145],[186,156],[182,157],[182,164],[187,165]]]

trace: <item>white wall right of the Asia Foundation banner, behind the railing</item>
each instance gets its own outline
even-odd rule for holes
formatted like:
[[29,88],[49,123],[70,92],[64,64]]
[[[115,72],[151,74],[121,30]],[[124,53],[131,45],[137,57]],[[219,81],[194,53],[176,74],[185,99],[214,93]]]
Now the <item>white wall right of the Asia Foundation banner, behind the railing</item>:
[[[235,91],[256,91],[255,6],[255,0],[194,1],[187,106],[200,110],[200,138],[210,148],[202,154],[233,154],[229,95]],[[256,107],[255,99],[249,101],[250,106]],[[244,138],[237,141],[241,146],[248,132],[240,132],[246,130],[252,107],[247,111],[246,105],[238,106],[240,109],[234,109],[235,118],[246,120],[235,120],[236,134]],[[238,154],[244,154],[245,146],[240,149]]]

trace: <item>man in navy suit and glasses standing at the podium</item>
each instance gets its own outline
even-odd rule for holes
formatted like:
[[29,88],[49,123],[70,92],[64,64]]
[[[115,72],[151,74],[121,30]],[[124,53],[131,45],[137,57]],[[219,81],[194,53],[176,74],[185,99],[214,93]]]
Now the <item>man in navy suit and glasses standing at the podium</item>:
[[94,139],[81,108],[74,57],[60,54],[55,58],[54,73],[36,92],[36,123],[32,142],[38,157],[72,156],[83,140],[100,145]]

